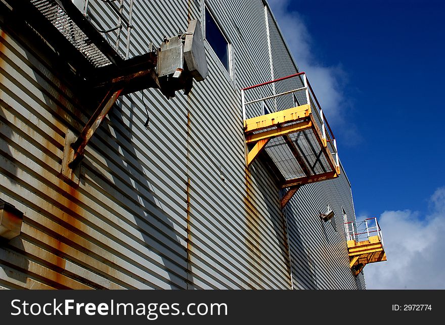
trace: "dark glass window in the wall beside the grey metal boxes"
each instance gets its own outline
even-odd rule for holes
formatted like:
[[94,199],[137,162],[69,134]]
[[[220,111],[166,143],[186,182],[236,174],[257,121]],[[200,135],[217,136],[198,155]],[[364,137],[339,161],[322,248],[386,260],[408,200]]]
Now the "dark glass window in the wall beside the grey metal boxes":
[[222,65],[230,72],[229,66],[229,42],[227,41],[221,29],[216,24],[212,15],[205,8],[205,39],[209,42],[216,56]]

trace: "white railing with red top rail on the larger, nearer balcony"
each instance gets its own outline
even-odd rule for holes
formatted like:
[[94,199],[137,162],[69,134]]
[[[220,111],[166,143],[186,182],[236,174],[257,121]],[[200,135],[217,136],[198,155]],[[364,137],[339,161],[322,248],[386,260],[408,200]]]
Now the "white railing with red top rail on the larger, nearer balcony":
[[[300,79],[300,81],[302,81],[303,87],[297,87],[294,89],[280,92],[279,94],[274,94],[271,96],[266,96],[266,97],[262,97],[259,99],[254,99],[254,100],[246,102],[245,91],[254,89],[254,88],[258,88],[258,87],[262,87],[265,85],[277,83],[277,82],[287,80],[290,78],[295,78],[295,77],[298,77],[299,79],[302,78],[302,80]],[[258,103],[258,102],[265,102],[265,101],[271,100],[271,99],[276,100],[278,97],[286,96],[289,94],[294,94],[296,92],[301,92],[301,91],[304,91],[304,97],[305,97],[306,103],[308,105],[310,105],[311,112],[318,119],[318,121],[320,123],[319,126],[322,131],[322,136],[323,136],[324,140],[326,141],[326,143],[330,144],[331,151],[333,151],[332,155],[335,156],[335,163],[336,163],[337,167],[339,167],[340,163],[339,163],[338,151],[337,151],[337,141],[335,140],[334,132],[332,132],[331,126],[329,125],[329,123],[326,119],[326,116],[323,113],[323,109],[317,99],[317,96],[315,95],[314,89],[310,85],[309,80],[307,79],[306,73],[304,71],[289,75],[287,77],[282,77],[282,78],[278,78],[278,79],[275,79],[272,81],[267,81],[267,82],[259,83],[259,84],[253,85],[253,86],[242,88],[241,89],[241,103],[242,103],[243,120],[246,120],[246,106],[247,105]],[[311,98],[313,98],[314,101],[311,100]],[[296,103],[295,106],[299,106],[299,105],[300,105],[300,103]],[[314,106],[316,106],[316,107],[314,107]],[[276,103],[275,103],[275,107],[277,107]],[[287,109],[287,108],[291,108],[291,107],[285,107],[283,109]]]

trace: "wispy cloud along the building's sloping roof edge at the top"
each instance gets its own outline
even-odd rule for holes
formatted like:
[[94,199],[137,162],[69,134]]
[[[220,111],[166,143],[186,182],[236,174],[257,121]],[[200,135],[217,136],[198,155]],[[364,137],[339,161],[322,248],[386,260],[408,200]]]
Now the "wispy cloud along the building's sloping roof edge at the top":
[[361,142],[357,127],[346,119],[351,103],[343,93],[347,73],[342,65],[322,65],[311,51],[313,39],[302,17],[296,11],[289,11],[289,0],[269,0],[272,12],[284,34],[290,51],[300,71],[307,72],[308,79],[326,113],[334,134],[340,134],[343,145],[354,146]]

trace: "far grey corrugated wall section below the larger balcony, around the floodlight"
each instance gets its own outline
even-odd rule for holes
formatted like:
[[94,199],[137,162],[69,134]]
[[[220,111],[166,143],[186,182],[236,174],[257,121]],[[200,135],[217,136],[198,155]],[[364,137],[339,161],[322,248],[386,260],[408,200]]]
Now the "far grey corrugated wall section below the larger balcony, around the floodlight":
[[[342,209],[353,215],[349,189],[343,172],[335,180],[305,185],[288,203],[292,275],[297,288],[360,288],[349,270],[343,230]],[[319,217],[327,205],[335,212],[330,222]]]

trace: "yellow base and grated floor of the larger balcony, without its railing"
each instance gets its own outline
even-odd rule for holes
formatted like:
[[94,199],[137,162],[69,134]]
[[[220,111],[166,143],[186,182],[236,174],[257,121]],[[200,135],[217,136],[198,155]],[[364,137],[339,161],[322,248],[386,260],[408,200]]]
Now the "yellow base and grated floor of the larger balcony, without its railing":
[[340,174],[333,157],[334,144],[320,130],[310,105],[246,119],[244,133],[250,149],[247,166],[265,151],[272,162],[269,165],[281,180],[281,188],[289,189],[289,195],[283,196],[282,208],[301,185]]

